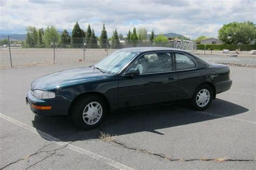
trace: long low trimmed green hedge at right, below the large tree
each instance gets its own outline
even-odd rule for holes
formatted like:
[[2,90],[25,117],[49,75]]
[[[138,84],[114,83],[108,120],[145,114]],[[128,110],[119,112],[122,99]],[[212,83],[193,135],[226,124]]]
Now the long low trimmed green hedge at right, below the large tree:
[[234,44],[197,44],[197,50],[215,49],[215,50],[230,50],[235,51],[240,48],[240,51],[256,50],[256,45],[234,45]]

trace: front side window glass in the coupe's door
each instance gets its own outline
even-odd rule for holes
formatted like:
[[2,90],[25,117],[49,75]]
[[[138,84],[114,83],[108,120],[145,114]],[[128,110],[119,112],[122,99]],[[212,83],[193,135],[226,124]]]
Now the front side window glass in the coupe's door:
[[140,74],[172,71],[172,56],[170,52],[150,53],[139,57],[130,68]]

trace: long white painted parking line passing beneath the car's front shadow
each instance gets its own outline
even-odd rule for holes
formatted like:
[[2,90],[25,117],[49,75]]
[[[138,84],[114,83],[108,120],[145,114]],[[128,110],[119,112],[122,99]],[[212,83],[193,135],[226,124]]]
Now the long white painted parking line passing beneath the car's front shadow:
[[119,162],[116,162],[116,161],[111,160],[109,158],[103,157],[102,155],[99,155],[97,153],[93,153],[91,151],[87,151],[86,149],[83,149],[83,148],[77,147],[75,145],[69,144],[68,142],[61,141],[60,139],[55,138],[55,137],[53,137],[52,135],[50,135],[48,133],[42,132],[40,130],[36,130],[36,128],[31,127],[29,125],[26,125],[26,124],[22,123],[21,121],[12,119],[12,118],[10,118],[7,115],[4,115],[2,113],[0,113],[0,118],[8,120],[11,123],[16,124],[18,126],[21,126],[21,127],[25,128],[26,130],[29,130],[29,131],[37,134],[37,135],[40,135],[41,137],[43,137],[43,138],[45,138],[47,140],[56,141],[56,144],[58,144],[58,145],[61,145],[61,146],[67,145],[66,148],[69,148],[72,151],[76,151],[76,152],[85,154],[85,155],[87,155],[87,156],[89,156],[89,157],[91,157],[93,159],[99,160],[99,161],[103,162],[104,164],[110,165],[110,166],[112,166],[114,168],[118,168],[118,169],[133,169],[133,168],[128,167],[126,165],[120,164]]

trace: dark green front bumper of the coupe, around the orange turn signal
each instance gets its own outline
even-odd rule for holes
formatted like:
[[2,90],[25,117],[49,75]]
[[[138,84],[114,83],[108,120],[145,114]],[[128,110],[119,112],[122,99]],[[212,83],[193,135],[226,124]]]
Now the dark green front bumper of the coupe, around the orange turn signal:
[[[26,104],[29,104],[30,109],[33,113],[38,116],[51,116],[51,115],[65,115],[68,114],[70,102],[68,101],[59,101],[59,100],[41,100],[35,98],[31,90],[26,92]],[[39,110],[37,108],[32,107],[32,105],[36,106],[51,106],[50,110]]]

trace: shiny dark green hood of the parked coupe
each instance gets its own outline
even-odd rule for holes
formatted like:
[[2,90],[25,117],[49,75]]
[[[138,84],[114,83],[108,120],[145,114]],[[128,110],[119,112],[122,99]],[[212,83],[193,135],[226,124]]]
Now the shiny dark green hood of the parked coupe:
[[57,89],[58,87],[84,83],[85,81],[103,79],[107,76],[109,76],[109,74],[95,70],[92,67],[82,67],[39,77],[32,82],[31,89],[53,90]]

